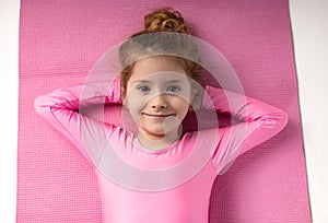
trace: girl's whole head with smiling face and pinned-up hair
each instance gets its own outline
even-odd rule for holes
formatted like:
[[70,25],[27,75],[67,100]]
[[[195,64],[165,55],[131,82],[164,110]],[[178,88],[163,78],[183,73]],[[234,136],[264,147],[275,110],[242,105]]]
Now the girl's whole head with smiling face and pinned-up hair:
[[139,129],[159,136],[177,130],[174,122],[192,107],[202,71],[180,14],[161,9],[145,15],[144,30],[120,46],[119,61],[121,98]]

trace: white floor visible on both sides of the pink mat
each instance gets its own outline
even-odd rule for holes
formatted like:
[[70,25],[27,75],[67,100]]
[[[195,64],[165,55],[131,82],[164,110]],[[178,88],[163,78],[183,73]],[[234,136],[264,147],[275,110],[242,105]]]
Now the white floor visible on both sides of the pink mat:
[[[328,1],[290,0],[314,223],[328,222]],[[19,0],[0,0],[0,222],[15,222]],[[325,210],[326,209],[326,210]]]

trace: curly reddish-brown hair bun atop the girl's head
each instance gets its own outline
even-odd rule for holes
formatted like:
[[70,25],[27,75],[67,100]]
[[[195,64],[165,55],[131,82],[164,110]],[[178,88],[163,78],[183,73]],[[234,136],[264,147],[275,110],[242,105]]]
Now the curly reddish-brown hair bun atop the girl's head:
[[144,30],[148,32],[174,32],[190,34],[180,13],[169,8],[159,9],[144,16]]

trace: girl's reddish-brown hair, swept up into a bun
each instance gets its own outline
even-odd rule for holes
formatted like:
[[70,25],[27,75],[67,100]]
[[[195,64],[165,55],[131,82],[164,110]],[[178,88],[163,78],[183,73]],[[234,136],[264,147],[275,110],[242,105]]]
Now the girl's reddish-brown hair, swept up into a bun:
[[[197,46],[189,38],[190,24],[184,21],[180,13],[169,8],[153,11],[144,16],[144,28],[130,36],[119,48],[121,67],[121,97],[126,96],[127,83],[131,77],[133,66],[140,59],[164,55],[177,59],[187,75],[201,84],[202,68]],[[184,35],[172,35],[180,33]],[[160,35],[159,35],[160,34]],[[187,55],[188,58],[177,55]]]

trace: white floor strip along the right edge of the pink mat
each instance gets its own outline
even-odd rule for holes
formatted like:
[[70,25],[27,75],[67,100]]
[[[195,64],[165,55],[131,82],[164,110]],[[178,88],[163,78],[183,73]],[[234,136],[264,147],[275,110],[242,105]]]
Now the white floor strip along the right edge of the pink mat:
[[328,1],[290,0],[313,222],[328,222]]

